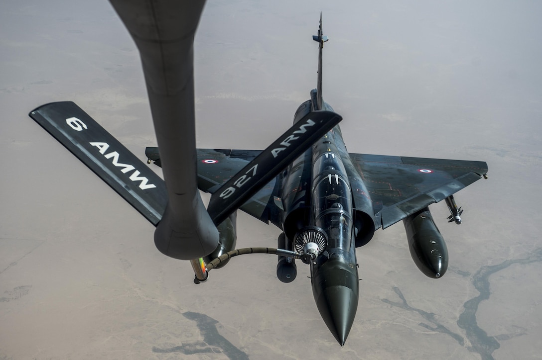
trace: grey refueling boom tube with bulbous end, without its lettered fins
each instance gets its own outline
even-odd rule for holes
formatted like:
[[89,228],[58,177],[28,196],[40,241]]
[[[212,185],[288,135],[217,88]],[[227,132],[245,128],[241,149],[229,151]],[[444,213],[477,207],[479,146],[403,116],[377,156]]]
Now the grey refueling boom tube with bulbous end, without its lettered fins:
[[168,203],[154,243],[173,258],[205,256],[218,244],[195,175],[193,39],[205,2],[111,3],[139,49],[162,156]]

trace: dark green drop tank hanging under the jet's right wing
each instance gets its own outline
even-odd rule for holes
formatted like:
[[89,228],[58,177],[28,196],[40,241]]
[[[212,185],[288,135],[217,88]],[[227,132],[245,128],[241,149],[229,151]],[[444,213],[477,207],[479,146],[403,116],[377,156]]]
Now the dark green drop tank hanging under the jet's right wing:
[[428,207],[403,219],[412,260],[430,278],[440,278],[448,269],[448,248]]

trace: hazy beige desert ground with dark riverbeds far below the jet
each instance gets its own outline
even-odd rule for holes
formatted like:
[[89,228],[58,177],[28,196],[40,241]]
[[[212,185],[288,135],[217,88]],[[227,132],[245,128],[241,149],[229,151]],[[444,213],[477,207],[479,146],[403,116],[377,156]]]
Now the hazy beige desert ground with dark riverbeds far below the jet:
[[[28,117],[75,101],[145,160],[156,140],[139,55],[111,5],[3,1],[0,358],[542,357],[542,4],[209,1],[195,42],[198,146],[261,149],[291,125],[316,85],[320,11],[324,97],[351,152],[489,165],[456,195],[461,226],[431,207],[446,276],[418,271],[401,224],[379,230],[357,252],[344,348],[302,264],[282,284],[274,257],[247,256],[194,285],[153,227]],[[242,214],[237,230],[240,247],[279,234]]]

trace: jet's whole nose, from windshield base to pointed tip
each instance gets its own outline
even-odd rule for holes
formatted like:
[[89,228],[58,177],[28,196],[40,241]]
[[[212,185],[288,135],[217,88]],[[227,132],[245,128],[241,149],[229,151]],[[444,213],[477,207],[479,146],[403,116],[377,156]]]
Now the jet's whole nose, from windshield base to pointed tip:
[[356,317],[358,272],[343,260],[328,260],[313,274],[313,295],[327,328],[344,345]]

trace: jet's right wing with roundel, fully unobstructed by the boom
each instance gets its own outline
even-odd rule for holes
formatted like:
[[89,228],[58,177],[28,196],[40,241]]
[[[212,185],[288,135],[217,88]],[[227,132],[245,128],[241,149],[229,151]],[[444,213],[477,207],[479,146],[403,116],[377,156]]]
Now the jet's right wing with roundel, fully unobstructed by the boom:
[[[375,222],[386,228],[441,201],[487,174],[483,161],[350,154],[373,203]],[[353,191],[354,202],[362,193]]]

